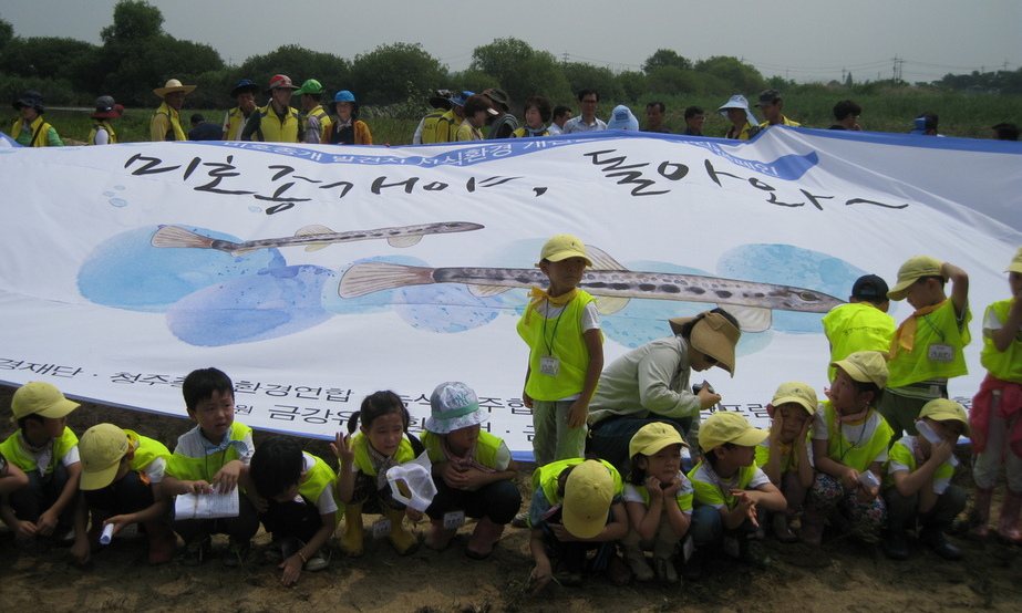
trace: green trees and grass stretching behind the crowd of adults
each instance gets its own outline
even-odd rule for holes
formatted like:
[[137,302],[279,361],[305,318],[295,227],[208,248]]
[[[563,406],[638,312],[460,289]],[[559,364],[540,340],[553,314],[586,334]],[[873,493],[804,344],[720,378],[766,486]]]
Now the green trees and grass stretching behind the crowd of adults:
[[[990,126],[1001,122],[1022,124],[1022,69],[947,75],[933,83],[910,85],[900,81],[798,84],[780,77],[765,79],[735,58],[713,56],[693,62],[669,49],[655,50],[641,71],[613,73],[607,67],[560,62],[551,53],[533,49],[519,39],[496,39],[478,46],[468,69],[450,72],[420,44],[381,44],[353,60],[283,45],[255,55],[239,66],[227,66],[209,45],[177,40],[163,30],[159,9],[142,0],[122,0],[113,23],[101,32],[102,44],[62,38],[20,38],[0,19],[0,100],[13,100],[24,90],[42,92],[48,106],[90,106],[100,94],[111,94],[128,111],[117,124],[124,142],[147,137],[147,123],[158,103],[152,90],[171,77],[197,85],[183,116],[198,108],[219,122],[233,105],[228,92],[241,77],[267,83],[285,73],[301,83],[318,79],[332,94],[347,89],[363,105],[374,141],[402,145],[411,142],[419,118],[429,108],[429,92],[436,89],[481,91],[503,87],[520,105],[541,94],[554,104],[575,108],[574,92],[600,92],[600,115],[616,104],[628,104],[644,123],[650,101],[667,104],[667,125],[684,127],[685,106],[708,111],[704,132],[723,135],[724,120],[718,106],[734,93],[755,102],[765,87],[781,90],[785,114],[812,127],[827,127],[830,110],[851,98],[864,108],[860,124],[869,131],[907,132],[922,112],[940,115],[940,132],[952,136],[989,137]],[[70,58],[70,60],[69,60]],[[328,100],[332,97],[326,96]],[[520,107],[512,110],[520,113]],[[84,141],[92,127],[87,112],[47,114],[61,135]],[[8,122],[3,122],[7,128]]]

